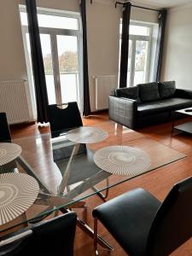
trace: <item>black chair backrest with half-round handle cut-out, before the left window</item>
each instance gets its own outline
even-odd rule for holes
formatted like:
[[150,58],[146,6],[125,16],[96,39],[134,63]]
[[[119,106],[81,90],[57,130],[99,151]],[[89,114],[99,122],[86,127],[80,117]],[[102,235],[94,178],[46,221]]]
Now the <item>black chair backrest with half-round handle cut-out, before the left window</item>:
[[52,136],[57,131],[68,131],[83,126],[77,102],[68,102],[67,108],[63,109],[58,108],[60,106],[62,105],[49,105],[49,123]]

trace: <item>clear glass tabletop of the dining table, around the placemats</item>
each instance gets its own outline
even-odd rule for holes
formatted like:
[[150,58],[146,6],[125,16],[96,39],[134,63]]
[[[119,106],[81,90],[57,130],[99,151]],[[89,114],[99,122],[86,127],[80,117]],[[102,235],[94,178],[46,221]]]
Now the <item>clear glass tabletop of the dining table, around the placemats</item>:
[[[20,145],[22,152],[16,159],[16,166],[12,162],[12,165],[1,166],[0,171],[22,172],[34,177],[39,184],[39,194],[24,215],[0,225],[0,232],[36,221],[61,208],[73,207],[91,195],[102,191],[105,193],[106,189],[110,193],[110,188],[119,183],[186,156],[113,121],[92,127],[108,132],[108,137],[99,143],[79,144],[67,140],[65,133],[57,131],[56,134],[38,134],[12,140],[12,143]],[[127,175],[106,172],[96,166],[93,159],[96,151],[116,145],[142,149],[150,159],[150,166],[141,173]]]

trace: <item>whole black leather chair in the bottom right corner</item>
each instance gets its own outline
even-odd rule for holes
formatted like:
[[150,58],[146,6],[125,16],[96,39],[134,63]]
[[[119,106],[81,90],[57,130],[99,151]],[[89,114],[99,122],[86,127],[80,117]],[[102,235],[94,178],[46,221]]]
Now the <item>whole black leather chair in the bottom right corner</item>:
[[166,256],[192,236],[192,177],[173,186],[162,203],[134,189],[96,207],[97,218],[131,256]]

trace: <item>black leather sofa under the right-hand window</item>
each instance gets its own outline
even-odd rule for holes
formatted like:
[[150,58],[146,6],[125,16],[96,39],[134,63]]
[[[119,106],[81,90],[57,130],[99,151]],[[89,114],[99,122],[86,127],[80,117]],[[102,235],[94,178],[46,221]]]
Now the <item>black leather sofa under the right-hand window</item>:
[[174,119],[176,110],[190,107],[192,90],[176,89],[175,81],[137,84],[113,90],[109,119],[137,129]]

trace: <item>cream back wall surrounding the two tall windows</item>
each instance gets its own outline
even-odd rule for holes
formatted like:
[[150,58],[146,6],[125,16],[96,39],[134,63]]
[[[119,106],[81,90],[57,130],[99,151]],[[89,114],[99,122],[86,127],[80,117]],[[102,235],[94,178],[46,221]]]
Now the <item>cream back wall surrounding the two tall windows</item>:
[[[90,105],[95,110],[93,75],[118,76],[119,20],[122,7],[113,0],[87,1]],[[24,0],[0,1],[0,80],[27,79],[26,61],[20,28],[19,4]],[[39,7],[79,11],[79,0],[37,0]],[[131,20],[156,22],[157,14],[133,8]]]

